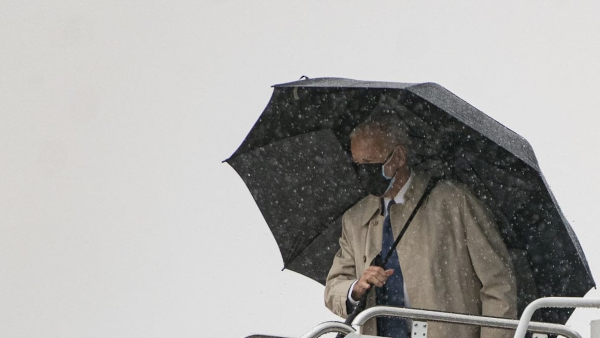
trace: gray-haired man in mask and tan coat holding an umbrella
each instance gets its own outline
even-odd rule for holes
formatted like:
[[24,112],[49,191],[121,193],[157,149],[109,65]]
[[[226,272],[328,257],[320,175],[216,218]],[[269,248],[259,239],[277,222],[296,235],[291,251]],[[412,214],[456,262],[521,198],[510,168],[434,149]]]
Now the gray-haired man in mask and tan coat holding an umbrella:
[[[442,180],[413,218],[384,268],[385,256],[430,181],[410,168],[410,144],[395,115],[380,114],[351,135],[357,164],[380,164],[391,179],[382,196],[368,195],[343,216],[340,250],[326,281],[325,304],[346,317],[370,288],[375,304],[515,318],[515,274],[508,251],[487,209],[466,186]],[[404,319],[378,318],[365,334],[406,337]],[[511,337],[511,331],[431,322],[428,337]]]

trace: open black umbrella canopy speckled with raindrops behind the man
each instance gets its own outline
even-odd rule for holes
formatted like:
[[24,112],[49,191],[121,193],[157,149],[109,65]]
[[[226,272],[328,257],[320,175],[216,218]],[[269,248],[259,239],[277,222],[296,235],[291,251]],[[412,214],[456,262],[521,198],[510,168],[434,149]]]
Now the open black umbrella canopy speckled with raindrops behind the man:
[[[414,167],[466,183],[493,210],[517,272],[520,312],[535,298],[583,297],[595,286],[529,143],[445,88],[338,78],[274,87],[226,162],[250,189],[284,268],[325,283],[341,215],[367,194],[349,134],[386,112],[410,130]],[[571,312],[542,310],[537,319],[564,323]]]

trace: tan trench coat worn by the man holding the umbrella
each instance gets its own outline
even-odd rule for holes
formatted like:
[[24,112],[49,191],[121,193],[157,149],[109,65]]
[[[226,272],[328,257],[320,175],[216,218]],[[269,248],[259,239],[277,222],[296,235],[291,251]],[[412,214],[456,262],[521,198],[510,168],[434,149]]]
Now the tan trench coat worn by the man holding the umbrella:
[[[390,211],[394,235],[423,194],[428,176],[415,174],[405,203]],[[346,318],[350,285],[381,251],[380,198],[365,197],[342,219],[340,250],[325,286],[325,305]],[[466,186],[437,183],[397,247],[410,307],[515,318],[517,289],[508,251],[493,218]],[[370,293],[367,306],[375,304]],[[512,331],[471,325],[428,324],[428,337],[512,337]],[[364,334],[376,334],[374,320]]]

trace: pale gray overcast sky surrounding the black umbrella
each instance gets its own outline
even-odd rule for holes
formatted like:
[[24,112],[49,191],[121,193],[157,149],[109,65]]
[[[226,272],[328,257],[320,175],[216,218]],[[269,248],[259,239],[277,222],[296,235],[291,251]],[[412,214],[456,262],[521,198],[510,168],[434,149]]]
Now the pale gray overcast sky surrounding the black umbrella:
[[600,280],[599,31],[598,1],[2,1],[0,336],[336,319],[221,163],[301,75],[437,82],[523,135]]

